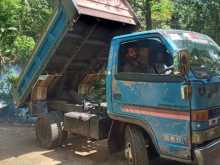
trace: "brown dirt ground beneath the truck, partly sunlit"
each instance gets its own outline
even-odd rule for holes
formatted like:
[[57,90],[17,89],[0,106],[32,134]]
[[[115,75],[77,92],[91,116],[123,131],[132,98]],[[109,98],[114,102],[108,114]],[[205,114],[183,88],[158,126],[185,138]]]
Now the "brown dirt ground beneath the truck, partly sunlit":
[[[0,165],[126,165],[123,156],[110,155],[106,142],[73,136],[55,150],[38,147],[33,126],[0,123]],[[154,165],[182,165],[157,160]]]

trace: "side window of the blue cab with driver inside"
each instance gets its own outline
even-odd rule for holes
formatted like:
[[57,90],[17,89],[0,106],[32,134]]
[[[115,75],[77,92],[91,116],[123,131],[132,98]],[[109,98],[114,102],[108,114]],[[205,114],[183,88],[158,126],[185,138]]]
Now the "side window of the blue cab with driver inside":
[[118,54],[119,73],[171,74],[172,56],[159,38],[122,43]]

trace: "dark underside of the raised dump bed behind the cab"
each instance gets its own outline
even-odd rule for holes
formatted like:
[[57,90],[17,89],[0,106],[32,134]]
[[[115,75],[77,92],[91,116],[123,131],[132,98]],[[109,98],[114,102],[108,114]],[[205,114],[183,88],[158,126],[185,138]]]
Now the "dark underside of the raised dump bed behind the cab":
[[81,16],[77,24],[69,29],[45,69],[44,74],[59,75],[48,88],[48,100],[72,100],[72,103],[78,103],[82,99],[81,96],[77,97],[81,83],[92,86],[95,75],[99,75],[98,79],[105,77],[102,75],[105,73],[112,37],[128,33],[133,28],[119,22]]

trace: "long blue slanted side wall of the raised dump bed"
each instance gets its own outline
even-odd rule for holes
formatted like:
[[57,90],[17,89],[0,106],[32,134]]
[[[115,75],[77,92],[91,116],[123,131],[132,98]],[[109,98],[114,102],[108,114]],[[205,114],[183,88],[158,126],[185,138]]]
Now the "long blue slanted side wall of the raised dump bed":
[[34,85],[33,83],[36,82],[37,78],[46,67],[48,61],[53,56],[57,44],[63,38],[63,35],[68,27],[68,21],[70,19],[70,15],[68,15],[66,12],[66,6],[61,4],[55,13],[52,24],[49,25],[49,29],[45,37],[36,48],[32,59],[25,68],[25,71],[23,72],[16,89],[15,97],[18,103],[21,103],[25,97],[27,97],[29,91],[31,90],[31,86]]

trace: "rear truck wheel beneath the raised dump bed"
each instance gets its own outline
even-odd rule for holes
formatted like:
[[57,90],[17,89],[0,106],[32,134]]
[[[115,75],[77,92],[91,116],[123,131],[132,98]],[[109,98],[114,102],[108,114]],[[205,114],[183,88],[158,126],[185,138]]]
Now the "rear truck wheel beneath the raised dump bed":
[[67,138],[63,130],[62,117],[58,112],[50,112],[38,118],[36,123],[36,137],[41,147],[52,149],[60,146]]

